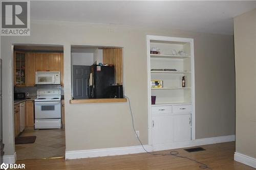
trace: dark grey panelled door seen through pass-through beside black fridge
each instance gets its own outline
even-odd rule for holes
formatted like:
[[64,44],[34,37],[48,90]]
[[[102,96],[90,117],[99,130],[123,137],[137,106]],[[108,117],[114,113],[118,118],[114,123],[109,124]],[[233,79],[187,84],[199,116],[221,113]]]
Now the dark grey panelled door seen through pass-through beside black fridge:
[[73,98],[88,99],[90,66],[73,65]]

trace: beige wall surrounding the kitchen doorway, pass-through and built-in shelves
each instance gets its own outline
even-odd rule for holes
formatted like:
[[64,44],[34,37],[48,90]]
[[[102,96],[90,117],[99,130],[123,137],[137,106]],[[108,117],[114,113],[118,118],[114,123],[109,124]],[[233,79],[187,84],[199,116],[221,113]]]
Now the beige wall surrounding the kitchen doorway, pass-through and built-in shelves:
[[32,21],[31,31],[29,37],[3,37],[1,43],[1,55],[5,63],[3,104],[7,154],[14,152],[12,43],[64,45],[67,151],[139,145],[132,130],[127,103],[69,104],[71,44],[123,47],[125,95],[131,99],[135,128],[140,131],[142,142],[147,143],[146,35],[194,38],[196,138],[234,134],[232,36],[58,21]]

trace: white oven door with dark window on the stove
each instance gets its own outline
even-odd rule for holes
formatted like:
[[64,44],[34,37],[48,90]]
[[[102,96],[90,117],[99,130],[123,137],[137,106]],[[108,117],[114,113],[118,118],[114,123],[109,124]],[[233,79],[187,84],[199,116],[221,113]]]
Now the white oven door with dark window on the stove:
[[35,102],[35,118],[61,118],[61,102]]

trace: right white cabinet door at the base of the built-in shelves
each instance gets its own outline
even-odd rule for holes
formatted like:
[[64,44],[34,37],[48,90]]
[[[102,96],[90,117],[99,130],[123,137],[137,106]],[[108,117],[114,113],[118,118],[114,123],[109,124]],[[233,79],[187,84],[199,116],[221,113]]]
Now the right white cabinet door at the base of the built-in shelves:
[[191,140],[191,114],[174,115],[174,141]]

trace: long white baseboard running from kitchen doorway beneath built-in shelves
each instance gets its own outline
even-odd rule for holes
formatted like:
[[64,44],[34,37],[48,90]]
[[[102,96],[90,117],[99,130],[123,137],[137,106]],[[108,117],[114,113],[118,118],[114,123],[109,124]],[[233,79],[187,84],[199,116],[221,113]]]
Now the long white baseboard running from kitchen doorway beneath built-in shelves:
[[[230,142],[234,140],[235,140],[235,135],[229,135],[229,136],[196,139],[196,140],[185,141],[185,142],[158,144],[154,146],[144,145],[144,148],[147,151],[151,152],[151,151],[161,151],[161,150],[178,149],[178,148],[186,148],[186,147],[195,147],[195,146],[205,145],[205,144]],[[80,158],[92,158],[92,157],[101,157],[101,156],[137,154],[137,153],[143,153],[143,152],[145,151],[139,145],[134,147],[66,151],[65,157],[66,159],[80,159]]]

